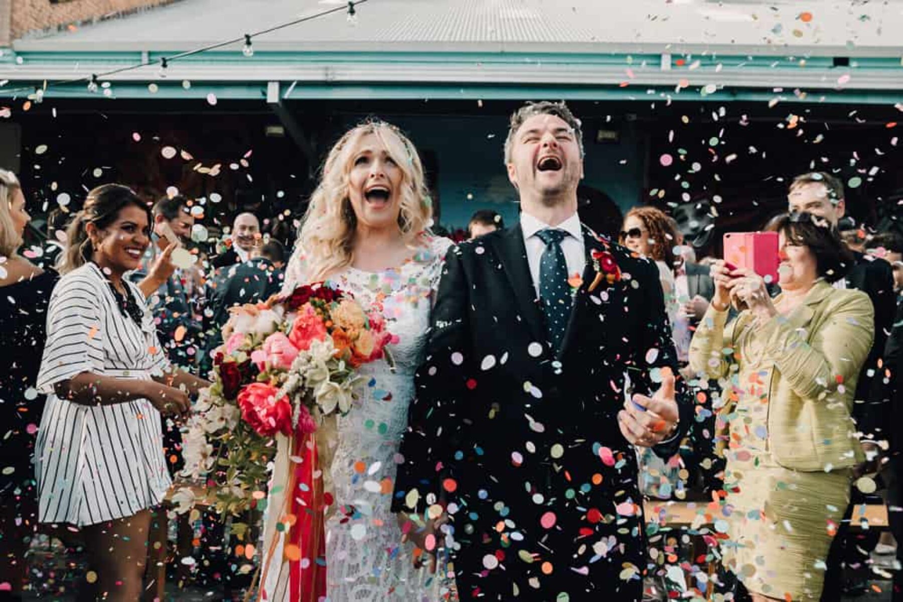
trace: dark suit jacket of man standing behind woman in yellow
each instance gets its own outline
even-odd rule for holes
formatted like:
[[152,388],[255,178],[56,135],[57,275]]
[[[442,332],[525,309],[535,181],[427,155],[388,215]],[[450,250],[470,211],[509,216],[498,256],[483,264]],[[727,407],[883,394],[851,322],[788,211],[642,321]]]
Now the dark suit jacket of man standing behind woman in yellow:
[[[856,263],[846,275],[848,289],[857,289],[869,295],[875,308],[875,341],[869,357],[862,366],[859,383],[856,384],[853,418],[863,435],[869,439],[888,438],[887,425],[882,424],[884,411],[879,406],[888,403],[889,384],[884,382],[883,371],[878,367],[893,326],[897,310],[894,292],[893,268],[877,257],[856,253]],[[870,375],[871,374],[871,375]]]

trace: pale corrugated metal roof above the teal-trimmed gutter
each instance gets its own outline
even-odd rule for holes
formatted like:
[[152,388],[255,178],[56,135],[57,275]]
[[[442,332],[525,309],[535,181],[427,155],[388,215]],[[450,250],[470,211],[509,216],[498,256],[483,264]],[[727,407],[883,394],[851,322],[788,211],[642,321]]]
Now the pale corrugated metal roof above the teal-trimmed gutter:
[[[172,51],[313,14],[339,0],[182,0],[14,42],[21,51]],[[808,15],[804,15],[807,13]],[[811,20],[805,18],[811,15]],[[279,51],[717,51],[899,56],[900,0],[368,0],[255,40]]]

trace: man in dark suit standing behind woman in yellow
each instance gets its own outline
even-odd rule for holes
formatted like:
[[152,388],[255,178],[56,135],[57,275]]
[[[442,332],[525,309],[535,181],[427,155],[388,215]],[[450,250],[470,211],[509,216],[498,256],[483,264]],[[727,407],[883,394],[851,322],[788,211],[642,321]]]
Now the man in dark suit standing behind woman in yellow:
[[[846,213],[842,182],[824,171],[796,176],[790,184],[787,202],[790,212],[807,211],[827,219],[834,227]],[[881,376],[883,371],[879,369],[879,360],[893,323],[896,296],[893,269],[888,262],[855,251],[853,255],[856,256],[856,263],[852,265],[846,278],[835,282],[834,286],[865,292],[875,308],[875,340],[856,384],[852,411],[852,417],[862,433],[862,449],[871,459],[880,453],[879,441],[888,439],[886,425],[882,424],[881,420],[883,415],[881,404],[886,403],[889,397],[882,391],[885,385]],[[858,472],[864,469],[859,468]],[[877,535],[867,533],[874,541],[864,542],[855,541],[849,533],[853,505],[861,504],[863,501],[860,491],[853,487],[852,503],[838,527],[826,560],[823,602],[839,602],[841,599],[844,588],[844,565],[857,570],[859,577],[856,580],[864,582],[868,578],[868,568],[865,566],[868,557],[863,556],[857,548],[870,551],[877,542]]]

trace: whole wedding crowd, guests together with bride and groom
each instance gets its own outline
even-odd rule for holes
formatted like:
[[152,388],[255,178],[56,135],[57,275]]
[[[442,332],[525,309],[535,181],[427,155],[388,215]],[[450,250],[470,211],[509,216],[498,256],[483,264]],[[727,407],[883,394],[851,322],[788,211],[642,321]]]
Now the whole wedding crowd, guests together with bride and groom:
[[[19,254],[27,191],[0,170],[0,600],[33,579],[39,528],[79,533],[79,599],[139,599],[230,308],[321,281],[396,338],[394,366],[362,368],[383,398],[340,418],[323,467],[341,509],[316,559],[330,599],[638,600],[661,569],[644,497],[697,486],[725,509],[710,579],[732,599],[837,600],[844,576],[868,579],[869,553],[903,542],[903,238],[842,233],[827,172],[797,176],[761,225],[777,279],[697,260],[698,233],[660,208],[596,233],[577,213],[584,152],[563,103],[520,108],[504,146],[517,223],[479,211],[453,245],[431,230],[414,144],[370,121],[331,149],[291,256],[253,213],[208,253],[191,199],[105,184],[52,267]],[[880,542],[850,530],[876,490]],[[201,530],[200,570],[224,579],[223,526]],[[311,559],[277,558],[262,595],[295,602],[288,568]]]

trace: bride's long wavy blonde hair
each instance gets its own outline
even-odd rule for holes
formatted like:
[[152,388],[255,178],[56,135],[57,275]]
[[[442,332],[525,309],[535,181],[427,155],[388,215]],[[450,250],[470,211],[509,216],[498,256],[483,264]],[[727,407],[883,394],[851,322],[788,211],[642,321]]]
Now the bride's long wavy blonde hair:
[[424,165],[414,144],[395,125],[378,119],[346,132],[323,162],[320,184],[304,214],[292,263],[304,261],[307,280],[317,282],[340,272],[354,259],[357,218],[349,199],[349,175],[360,140],[377,136],[389,157],[402,171],[398,229],[405,245],[415,248],[427,234],[433,207],[426,190]]

